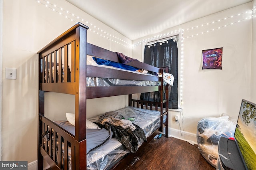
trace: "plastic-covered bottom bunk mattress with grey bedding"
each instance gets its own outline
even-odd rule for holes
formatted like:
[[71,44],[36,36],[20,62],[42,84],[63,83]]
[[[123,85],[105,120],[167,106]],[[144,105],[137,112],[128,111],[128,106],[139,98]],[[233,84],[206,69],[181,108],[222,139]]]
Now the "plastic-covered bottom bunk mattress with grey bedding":
[[[159,111],[150,111],[135,107],[125,107],[117,111],[107,112],[104,115],[98,115],[90,118],[86,121],[87,169],[111,169],[126,154],[131,152],[128,147],[124,146],[125,144],[128,145],[128,143],[121,143],[120,139],[118,141],[110,129],[106,130],[104,128],[100,128],[102,126],[100,126],[99,123],[102,122],[103,119],[108,119],[109,117],[111,117],[111,120],[113,120],[112,118],[114,118],[114,120],[131,120],[130,123],[143,130],[146,138],[160,127]],[[55,123],[74,135],[74,126],[70,123],[66,121],[56,121]],[[123,138],[126,139],[126,136]],[[139,147],[144,140],[137,136],[136,139],[138,141],[137,146]],[[64,144],[62,144],[62,146],[64,146]],[[64,147],[62,147],[61,155],[64,162]],[[68,150],[68,155],[68,169],[71,169],[71,150]]]

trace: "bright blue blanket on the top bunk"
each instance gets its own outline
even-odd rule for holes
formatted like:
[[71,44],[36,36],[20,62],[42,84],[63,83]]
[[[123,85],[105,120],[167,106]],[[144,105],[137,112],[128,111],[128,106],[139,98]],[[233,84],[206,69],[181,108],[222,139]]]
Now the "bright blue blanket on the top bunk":
[[121,68],[121,69],[126,69],[126,70],[130,70],[130,71],[138,70],[138,68],[132,67],[130,65],[125,65],[125,64],[122,64],[122,63],[116,63],[114,61],[108,61],[106,59],[100,59],[100,58],[96,58],[96,57],[92,57],[92,58],[99,65],[109,65],[109,66],[113,66],[113,67],[117,67],[117,68]]

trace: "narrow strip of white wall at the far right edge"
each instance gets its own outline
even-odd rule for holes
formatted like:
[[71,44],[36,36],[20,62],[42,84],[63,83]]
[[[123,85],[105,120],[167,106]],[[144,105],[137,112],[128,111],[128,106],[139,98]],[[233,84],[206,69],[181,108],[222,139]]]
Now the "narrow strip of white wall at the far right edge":
[[251,75],[251,101],[256,103],[256,0],[253,0],[254,13],[252,17],[252,75]]

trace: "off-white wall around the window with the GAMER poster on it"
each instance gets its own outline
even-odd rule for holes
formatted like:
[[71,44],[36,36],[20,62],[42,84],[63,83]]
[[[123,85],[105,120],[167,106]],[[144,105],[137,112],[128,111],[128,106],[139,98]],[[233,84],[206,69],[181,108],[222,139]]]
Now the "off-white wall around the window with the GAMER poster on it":
[[[174,122],[174,115],[180,115],[175,111],[171,111],[169,117],[170,127],[176,132],[171,135],[190,140],[188,138],[192,134],[192,140],[196,142],[200,119],[219,117],[222,113],[237,119],[241,100],[250,100],[252,20],[244,20],[251,14],[243,13],[251,9],[252,3],[243,4],[133,42],[138,44],[154,36],[161,37],[168,32],[184,29],[182,109],[184,131],[188,135],[181,136],[179,133],[182,119],[180,124]],[[202,70],[202,50],[218,47],[223,47],[222,70]],[[142,48],[142,45],[134,46],[133,56],[141,55]]]

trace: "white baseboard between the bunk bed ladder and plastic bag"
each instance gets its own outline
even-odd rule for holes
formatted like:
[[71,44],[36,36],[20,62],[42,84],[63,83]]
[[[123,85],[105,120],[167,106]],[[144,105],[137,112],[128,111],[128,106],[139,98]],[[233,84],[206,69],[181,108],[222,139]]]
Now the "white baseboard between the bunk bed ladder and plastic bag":
[[197,144],[196,134],[194,134],[194,133],[185,132],[185,131],[181,132],[178,129],[169,127],[168,128],[168,136],[178,138],[181,140],[185,140],[185,141],[189,142],[190,144]]

